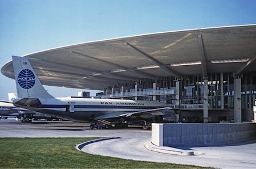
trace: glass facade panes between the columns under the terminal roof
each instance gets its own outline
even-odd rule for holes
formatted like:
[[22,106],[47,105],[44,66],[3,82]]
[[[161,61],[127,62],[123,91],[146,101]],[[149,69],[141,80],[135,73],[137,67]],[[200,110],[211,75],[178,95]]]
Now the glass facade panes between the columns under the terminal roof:
[[[176,110],[204,109],[204,80],[207,79],[208,110],[234,109],[234,79],[241,78],[241,108],[252,109],[256,96],[256,74],[244,73],[237,77],[233,73],[183,75],[180,79],[160,77],[156,81],[141,79],[139,83],[121,87],[114,92],[105,91],[102,98],[154,100],[169,104]],[[177,83],[178,82],[178,83]],[[179,87],[176,85],[179,84]],[[238,98],[237,98],[238,99]],[[225,115],[221,115],[226,119]],[[221,119],[218,117],[218,119]],[[231,118],[230,115],[227,118]]]

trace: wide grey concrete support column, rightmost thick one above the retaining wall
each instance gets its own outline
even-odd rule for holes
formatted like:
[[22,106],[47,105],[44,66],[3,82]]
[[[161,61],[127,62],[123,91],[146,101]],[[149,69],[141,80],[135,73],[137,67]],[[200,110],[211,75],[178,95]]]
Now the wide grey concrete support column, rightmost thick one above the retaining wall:
[[234,121],[242,122],[241,78],[234,79]]

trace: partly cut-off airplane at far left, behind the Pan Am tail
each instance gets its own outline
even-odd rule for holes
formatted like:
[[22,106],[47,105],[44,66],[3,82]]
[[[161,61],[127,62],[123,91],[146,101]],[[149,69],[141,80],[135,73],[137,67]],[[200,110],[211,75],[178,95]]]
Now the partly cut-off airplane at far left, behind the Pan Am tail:
[[[14,94],[8,94],[9,100],[14,100],[16,96]],[[41,120],[46,119],[50,120],[59,120],[59,118],[46,115],[43,113],[30,111],[25,108],[15,107],[13,102],[0,100],[0,119],[7,119],[8,116],[15,116],[17,121],[21,122],[32,122],[32,120]]]

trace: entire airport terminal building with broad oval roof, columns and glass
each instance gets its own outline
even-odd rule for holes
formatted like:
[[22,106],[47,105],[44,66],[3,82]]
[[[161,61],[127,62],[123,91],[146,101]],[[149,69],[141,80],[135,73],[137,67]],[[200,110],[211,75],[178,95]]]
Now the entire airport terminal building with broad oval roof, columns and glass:
[[[256,25],[199,28],[75,44],[27,54],[41,82],[155,100],[180,122],[255,119]],[[12,62],[1,69],[14,79]]]

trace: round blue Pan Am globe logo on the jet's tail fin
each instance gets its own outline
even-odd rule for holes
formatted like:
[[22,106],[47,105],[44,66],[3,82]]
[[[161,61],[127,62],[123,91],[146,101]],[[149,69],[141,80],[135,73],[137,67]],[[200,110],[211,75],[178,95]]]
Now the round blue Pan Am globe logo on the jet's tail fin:
[[19,86],[24,89],[29,89],[34,86],[35,84],[35,75],[29,69],[23,69],[18,74],[18,83]]

